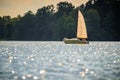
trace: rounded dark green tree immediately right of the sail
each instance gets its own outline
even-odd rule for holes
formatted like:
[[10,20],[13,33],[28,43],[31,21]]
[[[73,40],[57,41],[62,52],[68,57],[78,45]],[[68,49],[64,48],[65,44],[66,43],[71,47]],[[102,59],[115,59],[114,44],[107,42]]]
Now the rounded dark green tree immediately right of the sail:
[[[90,40],[100,40],[102,36],[100,31],[100,17],[95,9],[87,9],[86,14],[86,26],[88,31],[88,37]],[[100,36],[101,35],[101,36]]]

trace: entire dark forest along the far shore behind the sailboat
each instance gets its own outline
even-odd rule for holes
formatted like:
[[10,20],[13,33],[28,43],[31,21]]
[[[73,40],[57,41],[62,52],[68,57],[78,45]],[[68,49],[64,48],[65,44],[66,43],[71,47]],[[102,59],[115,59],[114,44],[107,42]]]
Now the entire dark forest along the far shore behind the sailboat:
[[88,0],[75,8],[72,3],[59,2],[39,8],[35,14],[0,17],[0,40],[62,40],[76,37],[77,12],[85,18],[91,41],[120,40],[120,0]]

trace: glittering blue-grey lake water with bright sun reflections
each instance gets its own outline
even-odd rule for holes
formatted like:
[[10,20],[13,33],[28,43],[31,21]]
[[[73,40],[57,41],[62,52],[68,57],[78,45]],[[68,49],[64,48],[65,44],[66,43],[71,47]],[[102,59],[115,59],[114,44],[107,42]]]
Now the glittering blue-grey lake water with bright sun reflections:
[[120,80],[120,42],[0,41],[0,80]]

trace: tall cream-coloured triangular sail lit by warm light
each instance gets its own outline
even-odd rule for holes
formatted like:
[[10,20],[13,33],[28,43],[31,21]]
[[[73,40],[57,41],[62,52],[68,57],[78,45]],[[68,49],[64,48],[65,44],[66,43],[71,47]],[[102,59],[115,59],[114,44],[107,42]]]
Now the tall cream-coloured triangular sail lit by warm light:
[[87,31],[84,17],[80,11],[78,11],[77,38],[87,39]]

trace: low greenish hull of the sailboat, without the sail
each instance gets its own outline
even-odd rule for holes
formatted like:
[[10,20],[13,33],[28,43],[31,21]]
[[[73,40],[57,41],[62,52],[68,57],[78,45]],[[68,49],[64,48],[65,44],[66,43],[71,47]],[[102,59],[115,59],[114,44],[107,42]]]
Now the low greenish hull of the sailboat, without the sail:
[[65,42],[65,44],[89,44],[89,41],[87,40],[83,41],[77,38],[73,39],[64,38],[63,41]]

